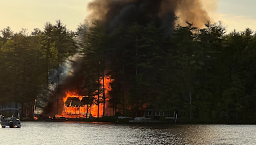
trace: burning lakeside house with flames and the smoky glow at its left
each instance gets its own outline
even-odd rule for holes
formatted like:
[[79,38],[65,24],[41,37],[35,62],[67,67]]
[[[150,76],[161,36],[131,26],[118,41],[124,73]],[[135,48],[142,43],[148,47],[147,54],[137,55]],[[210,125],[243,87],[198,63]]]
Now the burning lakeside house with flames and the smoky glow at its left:
[[[104,85],[102,85],[101,88],[103,89],[104,86],[104,93],[106,97],[105,115],[111,114],[108,103],[108,100],[110,98],[109,92],[111,91],[111,81],[112,80],[110,77],[105,76]],[[100,79],[100,83],[103,84],[102,79]],[[81,81],[76,81],[76,83],[71,84],[73,85],[67,85],[67,88],[62,89],[58,94],[54,94],[54,97],[58,97],[58,102],[56,102],[55,106],[53,104],[53,106],[50,107],[53,110],[54,108],[56,108],[57,113],[54,114],[55,111],[51,110],[49,112],[49,116],[55,116],[56,118],[89,118],[90,116],[102,117],[104,112],[104,102],[102,99],[103,93],[99,93],[100,99],[97,100],[97,92],[95,92],[94,96],[89,97],[88,95],[84,95],[88,93],[86,89],[75,89],[79,88],[79,85],[81,85]],[[62,88],[64,88],[64,86],[62,86]]]

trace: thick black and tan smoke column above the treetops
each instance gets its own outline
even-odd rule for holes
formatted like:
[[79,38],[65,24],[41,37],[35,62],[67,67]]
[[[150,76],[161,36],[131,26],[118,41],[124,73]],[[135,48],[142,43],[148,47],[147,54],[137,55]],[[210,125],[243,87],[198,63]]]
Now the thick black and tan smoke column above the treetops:
[[[216,0],[211,2],[214,8]],[[207,3],[207,1],[204,1]],[[90,23],[100,20],[109,31],[119,24],[138,23],[145,25],[154,21],[159,27],[170,32],[177,24],[194,23],[196,27],[204,27],[207,20],[211,20],[203,8],[202,0],[93,0],[88,3],[88,17]]]

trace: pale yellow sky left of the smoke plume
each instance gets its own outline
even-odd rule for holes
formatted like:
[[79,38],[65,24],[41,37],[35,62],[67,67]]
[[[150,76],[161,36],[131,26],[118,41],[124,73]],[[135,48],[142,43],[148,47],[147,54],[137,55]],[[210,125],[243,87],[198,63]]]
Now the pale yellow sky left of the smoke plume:
[[0,30],[10,26],[14,32],[27,28],[43,30],[46,22],[60,19],[75,31],[86,17],[89,0],[0,0]]

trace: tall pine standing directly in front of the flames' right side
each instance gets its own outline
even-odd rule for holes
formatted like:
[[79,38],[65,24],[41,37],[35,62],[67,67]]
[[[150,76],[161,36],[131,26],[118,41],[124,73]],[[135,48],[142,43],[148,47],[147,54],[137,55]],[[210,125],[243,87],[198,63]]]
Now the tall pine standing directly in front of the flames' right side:
[[102,102],[100,98],[100,78],[104,78],[105,62],[104,51],[106,50],[106,29],[101,22],[97,21],[90,27],[83,45],[83,74],[84,74],[84,88],[88,89],[88,96],[94,97],[97,95],[97,101],[94,103],[98,106],[99,118],[99,104]]

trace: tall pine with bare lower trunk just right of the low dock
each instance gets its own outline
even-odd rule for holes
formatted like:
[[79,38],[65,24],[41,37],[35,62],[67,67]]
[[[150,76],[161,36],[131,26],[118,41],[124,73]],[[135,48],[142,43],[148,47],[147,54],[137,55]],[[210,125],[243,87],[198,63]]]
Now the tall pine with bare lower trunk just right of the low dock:
[[195,49],[196,33],[198,28],[193,27],[193,24],[182,27],[177,26],[173,32],[174,39],[172,43],[175,45],[175,76],[179,89],[179,93],[184,97],[185,108],[189,110],[189,117],[193,118],[193,88],[195,80]]

